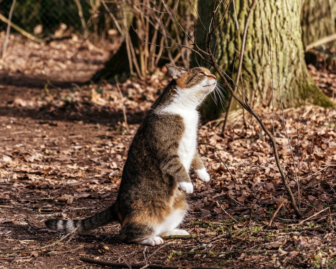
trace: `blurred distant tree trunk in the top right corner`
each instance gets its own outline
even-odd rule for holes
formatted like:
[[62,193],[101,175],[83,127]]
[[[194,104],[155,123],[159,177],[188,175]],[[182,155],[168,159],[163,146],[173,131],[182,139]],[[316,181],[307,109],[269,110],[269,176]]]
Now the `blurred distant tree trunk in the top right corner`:
[[[302,43],[305,48],[322,37],[336,33],[335,14],[332,12],[335,0],[303,0],[301,10]],[[330,48],[336,48],[336,42],[329,42]]]

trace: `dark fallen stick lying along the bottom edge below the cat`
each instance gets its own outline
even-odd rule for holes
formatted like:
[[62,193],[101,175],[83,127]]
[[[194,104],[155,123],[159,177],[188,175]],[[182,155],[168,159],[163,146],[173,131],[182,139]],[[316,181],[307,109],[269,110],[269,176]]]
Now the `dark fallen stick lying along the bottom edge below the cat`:
[[[92,264],[97,264],[97,265],[102,265],[102,266],[109,266],[109,267],[115,267],[115,268],[129,268],[126,263],[112,263],[112,262],[104,262],[104,261],[99,261],[99,260],[94,260],[90,258],[80,258],[81,261],[87,262],[87,263],[92,263]],[[131,268],[137,269],[145,266],[145,264],[129,264]],[[184,267],[184,266],[167,266],[167,265],[158,265],[158,264],[148,264],[146,268],[150,269],[220,269],[220,267],[203,267],[203,266],[196,266],[196,267]]]

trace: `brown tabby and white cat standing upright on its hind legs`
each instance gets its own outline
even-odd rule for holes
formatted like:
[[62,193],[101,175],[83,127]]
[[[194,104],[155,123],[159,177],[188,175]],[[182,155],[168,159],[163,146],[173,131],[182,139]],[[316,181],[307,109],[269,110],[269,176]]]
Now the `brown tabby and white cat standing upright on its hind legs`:
[[214,90],[216,77],[203,67],[166,65],[173,80],[151,107],[129,148],[117,200],[108,209],[84,220],[48,219],[47,227],[83,233],[118,221],[124,242],[163,243],[161,236],[187,235],[178,229],[194,191],[193,167],[209,181],[198,153],[197,107]]

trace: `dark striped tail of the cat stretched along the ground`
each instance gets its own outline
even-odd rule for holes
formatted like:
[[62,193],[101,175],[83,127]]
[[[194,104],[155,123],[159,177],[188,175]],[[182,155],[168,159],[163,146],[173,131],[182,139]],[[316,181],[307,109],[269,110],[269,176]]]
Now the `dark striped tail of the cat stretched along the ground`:
[[44,223],[51,230],[69,233],[86,233],[98,227],[117,221],[114,204],[108,209],[84,220],[48,219]]

